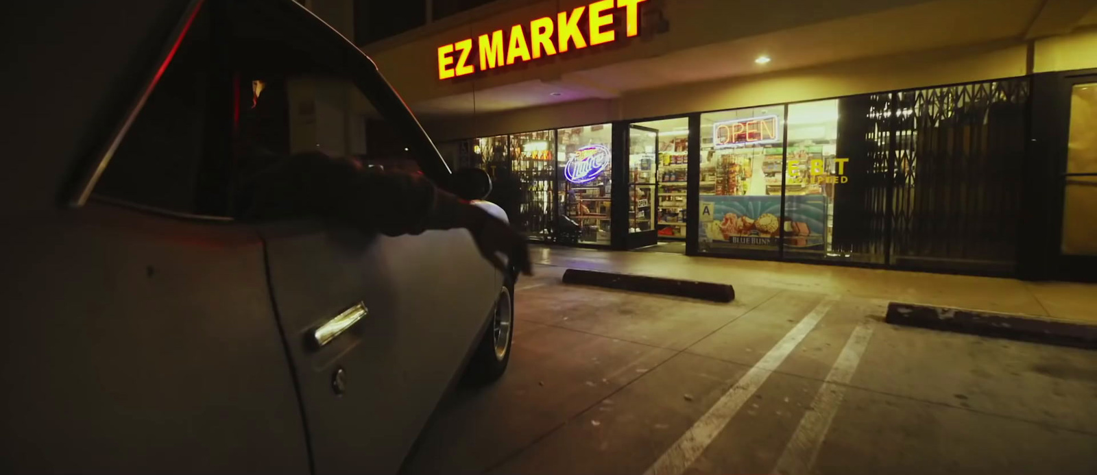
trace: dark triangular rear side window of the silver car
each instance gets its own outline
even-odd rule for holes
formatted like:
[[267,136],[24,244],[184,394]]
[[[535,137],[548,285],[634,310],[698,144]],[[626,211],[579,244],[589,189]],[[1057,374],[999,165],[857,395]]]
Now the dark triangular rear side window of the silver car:
[[200,12],[95,183],[93,194],[204,214],[203,166],[217,150],[207,117],[214,69],[208,14]]

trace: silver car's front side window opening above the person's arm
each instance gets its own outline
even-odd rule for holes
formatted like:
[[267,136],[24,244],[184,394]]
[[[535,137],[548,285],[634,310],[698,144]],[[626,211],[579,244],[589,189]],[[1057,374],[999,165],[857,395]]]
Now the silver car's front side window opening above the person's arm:
[[302,213],[295,203],[308,199],[289,183],[299,177],[279,172],[294,155],[296,160],[346,160],[359,169],[418,172],[408,147],[349,75],[314,63],[313,55],[292,43],[240,36],[233,72],[239,91],[234,217],[299,217],[294,216]]

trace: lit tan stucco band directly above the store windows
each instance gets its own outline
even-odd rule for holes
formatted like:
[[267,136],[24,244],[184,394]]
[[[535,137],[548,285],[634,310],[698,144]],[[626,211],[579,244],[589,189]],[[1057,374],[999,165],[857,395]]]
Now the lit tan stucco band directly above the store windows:
[[1027,46],[996,42],[963,48],[832,64],[771,75],[633,91],[590,100],[425,123],[436,140],[736,109],[1026,73]]

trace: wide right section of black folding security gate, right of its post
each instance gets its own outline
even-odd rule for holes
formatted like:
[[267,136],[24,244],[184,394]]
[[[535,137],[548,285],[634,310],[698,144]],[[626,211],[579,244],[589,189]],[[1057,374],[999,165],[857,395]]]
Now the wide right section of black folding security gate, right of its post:
[[891,94],[890,263],[1014,272],[1028,98],[1028,79]]

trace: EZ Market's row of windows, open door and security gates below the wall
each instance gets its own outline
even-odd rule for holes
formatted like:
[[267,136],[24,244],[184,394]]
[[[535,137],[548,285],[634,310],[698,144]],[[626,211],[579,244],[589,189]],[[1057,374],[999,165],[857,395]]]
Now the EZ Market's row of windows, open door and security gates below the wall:
[[1030,88],[1006,78],[480,137],[461,140],[463,165],[517,182],[513,220],[533,240],[1008,275]]

